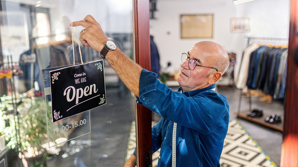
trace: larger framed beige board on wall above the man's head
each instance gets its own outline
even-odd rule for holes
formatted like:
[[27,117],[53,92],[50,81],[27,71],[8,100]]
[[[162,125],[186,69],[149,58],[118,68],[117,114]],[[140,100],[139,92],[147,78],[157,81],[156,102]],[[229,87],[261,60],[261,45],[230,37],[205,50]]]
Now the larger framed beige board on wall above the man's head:
[[213,14],[180,15],[181,38],[213,38]]

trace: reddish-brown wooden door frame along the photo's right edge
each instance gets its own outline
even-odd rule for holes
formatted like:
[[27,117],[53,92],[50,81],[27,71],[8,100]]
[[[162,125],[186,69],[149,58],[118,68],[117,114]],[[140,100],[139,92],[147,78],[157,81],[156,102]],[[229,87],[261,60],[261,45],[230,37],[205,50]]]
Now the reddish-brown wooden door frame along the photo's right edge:
[[285,90],[284,133],[281,167],[298,167],[298,64],[294,55],[298,47],[298,0],[290,3],[290,31]]

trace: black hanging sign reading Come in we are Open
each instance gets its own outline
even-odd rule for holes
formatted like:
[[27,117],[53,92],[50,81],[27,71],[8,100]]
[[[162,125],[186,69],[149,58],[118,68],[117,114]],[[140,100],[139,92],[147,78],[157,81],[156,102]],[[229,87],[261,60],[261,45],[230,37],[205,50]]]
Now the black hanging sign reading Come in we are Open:
[[50,71],[53,123],[106,104],[103,60]]

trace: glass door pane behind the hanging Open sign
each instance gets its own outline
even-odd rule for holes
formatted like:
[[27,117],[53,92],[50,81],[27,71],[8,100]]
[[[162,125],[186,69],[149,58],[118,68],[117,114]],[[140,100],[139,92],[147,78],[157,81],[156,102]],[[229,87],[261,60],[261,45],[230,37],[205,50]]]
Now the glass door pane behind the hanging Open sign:
[[[3,76],[5,72],[0,79],[0,136],[6,140],[8,166],[123,166],[133,135],[135,96],[98,52],[77,40],[82,27],[72,30],[69,25],[92,15],[133,58],[133,1],[0,3],[0,68]],[[49,72],[80,65],[81,60],[103,61],[105,103],[55,122],[59,113],[52,114]]]

